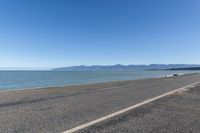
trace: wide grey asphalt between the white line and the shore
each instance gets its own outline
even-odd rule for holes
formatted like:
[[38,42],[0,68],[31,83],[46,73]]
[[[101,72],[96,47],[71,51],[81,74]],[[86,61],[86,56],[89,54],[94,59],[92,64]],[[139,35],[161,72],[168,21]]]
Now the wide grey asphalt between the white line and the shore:
[[197,81],[199,74],[0,92],[0,132],[62,132]]

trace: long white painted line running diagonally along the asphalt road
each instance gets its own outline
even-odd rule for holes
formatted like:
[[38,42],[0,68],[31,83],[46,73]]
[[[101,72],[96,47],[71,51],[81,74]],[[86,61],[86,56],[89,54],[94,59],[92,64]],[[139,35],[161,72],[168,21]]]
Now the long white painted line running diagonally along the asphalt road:
[[96,120],[93,120],[93,121],[90,121],[90,122],[88,122],[88,123],[85,123],[85,124],[79,125],[79,126],[77,126],[77,127],[74,127],[74,128],[72,128],[72,129],[66,130],[66,131],[64,131],[64,132],[62,132],[62,133],[74,133],[74,132],[80,131],[80,130],[82,130],[82,129],[84,129],[84,128],[87,128],[87,127],[92,126],[92,125],[94,125],[94,124],[100,123],[100,122],[105,121],[105,120],[107,120],[107,119],[113,118],[113,117],[115,117],[115,116],[121,115],[121,114],[123,114],[123,113],[126,113],[126,112],[132,110],[132,109],[135,109],[135,108],[140,107],[140,106],[142,106],[142,105],[145,105],[145,104],[147,104],[147,103],[156,101],[156,100],[158,100],[158,99],[160,99],[160,98],[162,98],[162,97],[168,96],[168,95],[173,94],[173,93],[175,93],[175,92],[184,91],[184,90],[187,89],[187,88],[195,87],[195,85],[197,85],[197,84],[199,84],[199,83],[200,83],[200,81],[199,81],[199,82],[196,82],[196,83],[193,83],[193,84],[190,84],[190,85],[187,85],[187,86],[184,86],[184,87],[182,87],[182,88],[179,88],[179,89],[176,89],[176,90],[167,92],[167,93],[162,94],[162,95],[160,95],[160,96],[157,96],[157,97],[154,97],[154,98],[145,100],[145,101],[143,101],[143,102],[141,102],[141,103],[135,104],[135,105],[133,105],[133,106],[130,106],[130,107],[125,108],[125,109],[122,109],[122,110],[117,111],[117,112],[115,112],[115,113],[109,114],[109,115],[107,115],[107,116],[98,118],[98,119],[96,119]]

